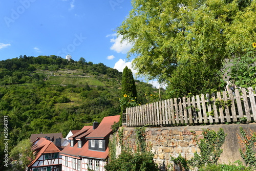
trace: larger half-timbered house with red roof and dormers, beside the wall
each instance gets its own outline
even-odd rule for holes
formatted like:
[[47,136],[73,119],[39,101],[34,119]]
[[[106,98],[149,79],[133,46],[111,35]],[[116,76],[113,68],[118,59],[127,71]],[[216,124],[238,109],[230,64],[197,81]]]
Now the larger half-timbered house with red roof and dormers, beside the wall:
[[104,117],[100,124],[84,126],[69,137],[70,144],[61,151],[63,171],[104,170],[109,156],[109,136],[111,126],[118,122],[120,115]]

